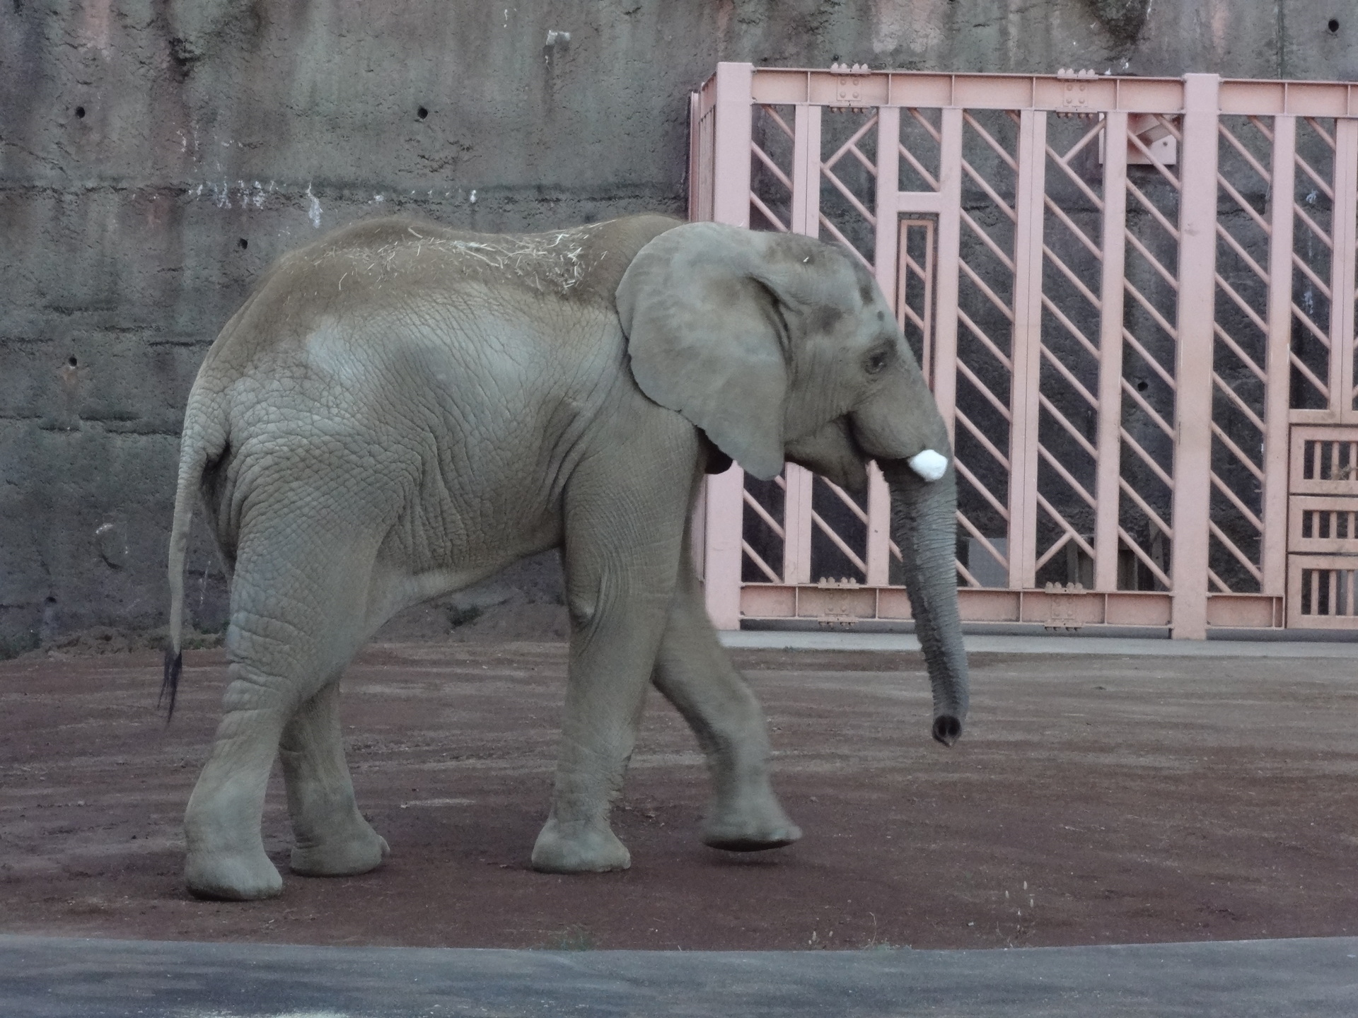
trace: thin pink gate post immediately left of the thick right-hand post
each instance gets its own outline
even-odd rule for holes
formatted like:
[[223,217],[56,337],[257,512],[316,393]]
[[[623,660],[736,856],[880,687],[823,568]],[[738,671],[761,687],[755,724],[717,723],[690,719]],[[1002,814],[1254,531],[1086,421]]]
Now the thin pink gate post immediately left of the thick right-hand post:
[[1122,499],[1122,330],[1127,265],[1127,114],[1104,117],[1103,277],[1099,286],[1099,464],[1095,478],[1095,589],[1118,589]]

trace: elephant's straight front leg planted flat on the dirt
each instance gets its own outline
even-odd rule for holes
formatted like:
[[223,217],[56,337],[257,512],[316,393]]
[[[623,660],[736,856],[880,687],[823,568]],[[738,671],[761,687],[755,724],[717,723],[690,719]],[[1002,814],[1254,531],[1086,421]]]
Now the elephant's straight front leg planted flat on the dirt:
[[[638,474],[650,476],[638,476]],[[608,825],[674,593],[689,476],[593,474],[566,493],[570,668],[551,814],[534,869],[631,865]]]

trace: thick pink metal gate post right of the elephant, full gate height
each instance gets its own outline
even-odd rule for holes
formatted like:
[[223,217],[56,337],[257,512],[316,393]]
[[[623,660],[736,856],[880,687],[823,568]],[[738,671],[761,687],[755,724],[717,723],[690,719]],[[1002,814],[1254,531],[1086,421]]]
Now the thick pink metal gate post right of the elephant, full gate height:
[[1211,371],[1217,297],[1217,75],[1184,75],[1179,191],[1179,331],[1175,418],[1175,639],[1207,638],[1211,512]]

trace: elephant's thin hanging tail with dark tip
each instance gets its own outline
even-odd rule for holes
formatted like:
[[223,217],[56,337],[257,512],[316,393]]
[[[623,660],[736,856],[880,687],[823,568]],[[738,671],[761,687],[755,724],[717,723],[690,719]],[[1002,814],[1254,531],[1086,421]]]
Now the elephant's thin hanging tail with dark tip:
[[170,527],[170,639],[166,643],[164,677],[156,707],[166,704],[166,723],[174,717],[179,673],[183,671],[181,631],[183,628],[183,566],[189,554],[189,527],[193,523],[193,502],[202,485],[206,466],[217,460],[227,448],[225,418],[217,411],[216,400],[202,396],[197,388],[189,394],[185,411],[183,440],[179,445],[179,480],[174,493],[174,523]]

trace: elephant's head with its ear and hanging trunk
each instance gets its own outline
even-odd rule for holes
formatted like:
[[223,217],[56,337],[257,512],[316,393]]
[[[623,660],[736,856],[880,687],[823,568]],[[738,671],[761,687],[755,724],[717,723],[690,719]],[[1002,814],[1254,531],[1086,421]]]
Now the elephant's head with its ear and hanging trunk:
[[618,286],[618,315],[642,392],[755,476],[792,460],[861,491],[877,461],[933,683],[933,736],[955,742],[967,657],[952,449],[870,273],[811,238],[690,223],[641,248]]

